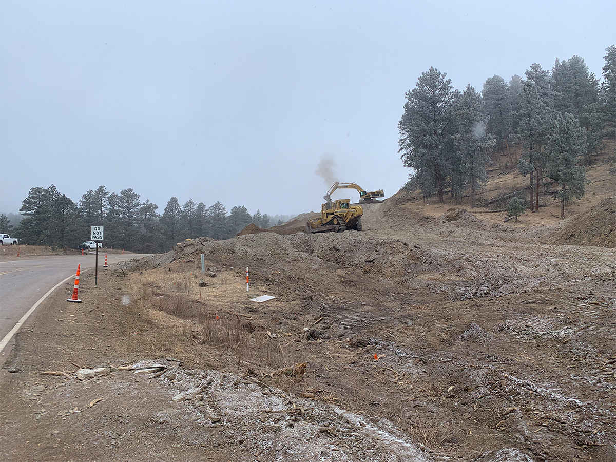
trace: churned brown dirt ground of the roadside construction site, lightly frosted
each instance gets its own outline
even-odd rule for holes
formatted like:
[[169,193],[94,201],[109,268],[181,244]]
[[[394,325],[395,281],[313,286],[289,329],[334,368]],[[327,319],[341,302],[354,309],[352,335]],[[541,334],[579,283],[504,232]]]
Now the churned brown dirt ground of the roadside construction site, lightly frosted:
[[516,224],[399,193],[362,232],[84,274],[2,369],[0,460],[614,461],[616,210],[594,199]]

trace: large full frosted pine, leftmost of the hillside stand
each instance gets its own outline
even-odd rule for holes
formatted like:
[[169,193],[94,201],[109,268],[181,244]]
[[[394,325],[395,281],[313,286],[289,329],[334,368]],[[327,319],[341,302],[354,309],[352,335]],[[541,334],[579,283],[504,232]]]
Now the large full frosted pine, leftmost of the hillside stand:
[[424,197],[435,193],[442,202],[453,159],[453,91],[451,79],[431,67],[407,91],[398,129],[405,167],[415,169]]

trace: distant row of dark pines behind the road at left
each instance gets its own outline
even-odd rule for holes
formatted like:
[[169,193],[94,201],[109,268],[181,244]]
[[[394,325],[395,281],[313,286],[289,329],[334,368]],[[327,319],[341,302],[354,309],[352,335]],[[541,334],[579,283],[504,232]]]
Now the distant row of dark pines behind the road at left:
[[169,199],[160,214],[156,204],[140,198],[132,188],[118,194],[99,186],[75,203],[54,185],[34,187],[19,209],[24,216],[22,221],[13,227],[2,214],[0,229],[14,233],[26,245],[75,248],[89,240],[91,225],[103,225],[105,246],[155,253],[168,251],[187,238],[227,239],[251,223],[267,229],[290,219],[282,215],[271,217],[259,210],[251,215],[244,206],[235,206],[227,213],[220,201],[208,207],[190,199],[180,206],[176,197]]

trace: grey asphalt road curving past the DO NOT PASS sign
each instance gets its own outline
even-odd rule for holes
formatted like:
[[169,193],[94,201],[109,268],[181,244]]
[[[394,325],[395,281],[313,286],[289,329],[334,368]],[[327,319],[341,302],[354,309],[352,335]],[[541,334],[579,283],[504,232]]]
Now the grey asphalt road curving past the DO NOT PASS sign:
[[[111,265],[142,254],[107,255]],[[103,270],[105,256],[99,253],[99,272]],[[75,275],[77,265],[81,272],[94,268],[95,255],[25,257],[0,262],[0,342],[22,316],[63,279]],[[92,271],[92,270],[91,270]],[[67,294],[69,297],[71,294]],[[0,365],[9,354],[13,340],[0,352]]]

